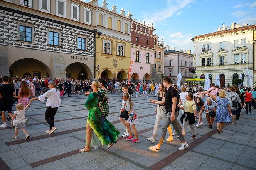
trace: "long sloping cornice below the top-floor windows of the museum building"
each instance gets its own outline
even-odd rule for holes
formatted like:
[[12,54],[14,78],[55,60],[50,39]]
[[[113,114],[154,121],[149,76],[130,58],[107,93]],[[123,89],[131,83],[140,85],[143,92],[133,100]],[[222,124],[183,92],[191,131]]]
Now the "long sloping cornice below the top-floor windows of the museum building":
[[[3,1],[2,1],[3,2]],[[2,3],[1,2],[1,3]],[[74,24],[70,24],[70,23],[66,23],[66,22],[63,22],[63,21],[57,21],[57,20],[54,20],[54,19],[51,19],[51,18],[47,18],[47,17],[42,17],[40,15],[35,15],[35,14],[32,14],[32,13],[27,13],[27,12],[23,12],[23,11],[20,11],[20,10],[15,10],[15,9],[12,9],[12,8],[8,8],[8,7],[3,7],[3,6],[0,6],[0,9],[1,10],[5,10],[5,11],[9,11],[9,12],[14,12],[14,13],[19,13],[21,15],[27,15],[29,17],[34,17],[34,18],[38,18],[38,19],[41,19],[41,20],[45,20],[45,21],[50,21],[50,22],[54,22],[54,23],[59,23],[59,24],[62,24],[62,25],[66,25],[66,26],[71,26],[73,28],[78,28],[78,29],[81,29],[81,30],[85,30],[85,31],[88,31],[88,32],[92,32],[94,33],[94,30],[90,30],[88,28],[84,28],[82,27],[82,25],[84,26],[88,26],[88,27],[91,27],[92,29],[96,28],[96,26],[92,26],[92,25],[88,25],[88,24],[85,24],[85,23],[81,23],[81,22],[78,22],[78,21],[74,21],[74,20],[70,20],[68,18],[63,18],[63,17],[59,17],[59,16],[56,16],[56,15],[52,15],[51,13],[45,13],[45,12],[41,12],[39,10],[35,10],[35,9],[32,9],[32,8],[26,8],[26,7],[22,7],[20,5],[17,5],[17,4],[13,4],[13,3],[9,3],[9,2],[4,2],[6,3],[7,5],[11,5],[13,7],[17,7],[17,8],[20,8],[20,10],[24,10],[24,11],[27,11],[27,12],[35,12],[35,13],[39,13],[41,15],[46,15],[46,16],[49,16],[51,18],[56,18],[56,19],[61,19],[61,20],[66,20],[66,21],[69,21],[69,22],[72,22]],[[81,26],[77,26],[77,24],[81,25]]]

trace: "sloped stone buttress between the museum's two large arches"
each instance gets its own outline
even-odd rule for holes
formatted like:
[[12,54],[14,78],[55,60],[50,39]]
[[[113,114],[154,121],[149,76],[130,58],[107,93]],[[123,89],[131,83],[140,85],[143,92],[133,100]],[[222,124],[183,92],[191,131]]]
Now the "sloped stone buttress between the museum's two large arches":
[[52,79],[66,78],[64,57],[58,53],[52,53]]

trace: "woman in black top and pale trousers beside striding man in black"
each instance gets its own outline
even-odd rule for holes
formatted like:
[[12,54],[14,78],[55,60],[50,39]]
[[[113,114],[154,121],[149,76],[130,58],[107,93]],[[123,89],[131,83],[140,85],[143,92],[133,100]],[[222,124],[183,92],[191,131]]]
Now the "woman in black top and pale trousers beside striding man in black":
[[[155,112],[157,113],[157,116],[155,118],[153,136],[147,138],[147,140],[149,140],[153,143],[155,143],[155,137],[156,137],[157,132],[158,132],[160,121],[161,121],[161,119],[164,120],[165,116],[166,116],[165,106],[164,106],[164,104],[165,104],[165,87],[163,86],[163,83],[160,83],[158,88],[159,88],[159,92],[158,92],[157,100],[150,99],[150,103],[157,104],[157,107],[155,108]],[[169,126],[167,130],[168,130],[170,135],[169,135],[168,139],[166,139],[166,140],[171,141],[171,140],[173,140],[172,128]]]

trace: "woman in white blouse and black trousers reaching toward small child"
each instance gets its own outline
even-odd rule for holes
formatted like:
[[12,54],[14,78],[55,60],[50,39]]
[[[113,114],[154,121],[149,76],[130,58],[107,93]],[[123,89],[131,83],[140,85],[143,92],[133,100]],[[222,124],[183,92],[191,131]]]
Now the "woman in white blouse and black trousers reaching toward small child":
[[59,98],[60,92],[56,89],[56,84],[54,83],[54,81],[50,81],[48,83],[48,87],[50,88],[50,90],[48,90],[41,96],[31,99],[29,102],[35,100],[40,100],[41,102],[44,102],[45,98],[47,97],[45,120],[50,125],[50,128],[49,130],[46,130],[45,133],[52,134],[55,130],[57,130],[57,128],[54,126],[54,116],[58,110],[58,107],[61,104],[61,99]]

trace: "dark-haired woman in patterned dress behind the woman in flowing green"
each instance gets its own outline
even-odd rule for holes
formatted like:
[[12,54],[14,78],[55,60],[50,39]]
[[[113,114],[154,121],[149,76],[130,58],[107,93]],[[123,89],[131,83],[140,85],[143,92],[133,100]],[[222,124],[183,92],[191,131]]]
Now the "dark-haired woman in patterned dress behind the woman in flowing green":
[[109,112],[108,106],[108,90],[105,88],[106,80],[104,78],[99,78],[99,82],[101,83],[100,92],[100,100],[99,106],[101,107],[101,114],[107,118]]

